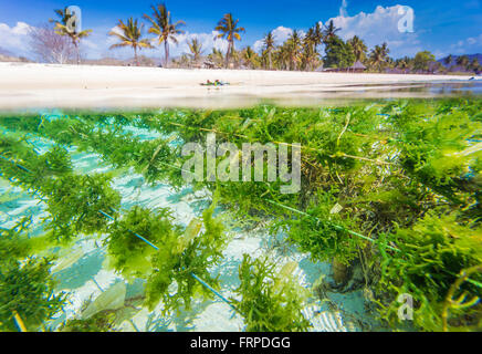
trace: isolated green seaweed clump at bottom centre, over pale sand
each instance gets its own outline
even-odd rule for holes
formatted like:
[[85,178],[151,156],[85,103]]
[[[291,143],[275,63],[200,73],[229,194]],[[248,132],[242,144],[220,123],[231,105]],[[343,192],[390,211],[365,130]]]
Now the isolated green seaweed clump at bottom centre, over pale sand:
[[232,301],[244,317],[245,331],[303,332],[310,327],[301,312],[303,290],[283,270],[276,274],[268,259],[244,254],[239,268],[241,284],[235,290],[241,300]]

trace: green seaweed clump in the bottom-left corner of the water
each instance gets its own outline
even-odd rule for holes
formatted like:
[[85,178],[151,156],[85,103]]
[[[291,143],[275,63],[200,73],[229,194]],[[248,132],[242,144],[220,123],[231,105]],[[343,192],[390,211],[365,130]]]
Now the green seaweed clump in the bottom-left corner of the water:
[[48,259],[29,258],[0,269],[0,330],[17,331],[13,313],[20,315],[29,331],[39,330],[62,309],[65,294],[53,294],[55,285]]

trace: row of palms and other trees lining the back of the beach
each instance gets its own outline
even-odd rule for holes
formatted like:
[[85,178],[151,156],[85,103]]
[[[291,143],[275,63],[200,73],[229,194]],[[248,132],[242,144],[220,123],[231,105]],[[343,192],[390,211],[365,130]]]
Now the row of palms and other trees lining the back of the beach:
[[[118,20],[116,28],[108,32],[108,35],[115,38],[117,43],[111,45],[109,49],[132,48],[134,52],[134,62],[139,65],[139,52],[143,49],[154,49],[155,46],[164,46],[164,59],[161,59],[165,67],[232,67],[232,69],[264,69],[264,70],[291,70],[291,71],[314,71],[319,67],[329,67],[337,70],[347,70],[354,63],[360,62],[371,72],[394,71],[398,73],[440,73],[450,70],[462,70],[470,72],[480,72],[482,67],[476,59],[470,61],[467,55],[457,58],[454,61],[452,55],[446,58],[444,63],[449,67],[443,66],[436,61],[436,58],[429,51],[418,52],[413,58],[404,56],[401,59],[392,59],[389,56],[390,50],[387,43],[375,45],[371,50],[358,35],[344,41],[338,32],[333,20],[325,25],[316,22],[303,35],[301,31],[294,30],[290,37],[280,45],[275,44],[274,31],[266,33],[262,40],[262,48],[256,52],[251,45],[241,50],[237,50],[235,41],[241,41],[241,35],[245,32],[243,27],[240,27],[239,19],[233,18],[232,13],[226,13],[214,27],[217,31],[216,39],[224,39],[228,42],[228,48],[223,52],[213,48],[209,54],[205,54],[201,41],[193,37],[188,42],[188,52],[179,58],[170,60],[170,44],[178,44],[178,37],[185,34],[182,28],[185,21],[172,21],[171,12],[165,3],[150,7],[151,13],[145,13],[143,19],[147,22],[147,37],[144,32],[146,23],[139,19],[128,18],[127,20]],[[70,48],[67,54],[55,53],[54,61],[59,58],[74,53],[77,64],[81,63],[80,42],[87,38],[92,30],[73,31],[69,23],[71,14],[67,8],[55,10],[57,20],[50,20],[54,23],[53,32],[56,37],[67,39],[61,42],[64,46]],[[53,41],[52,35],[48,35],[48,29],[41,29],[41,32],[34,33],[33,49],[39,52],[45,48],[59,46],[59,40]],[[51,33],[52,34],[52,33]],[[49,43],[43,43],[49,40]],[[43,42],[42,42],[43,41]],[[41,43],[41,45],[39,45]],[[56,50],[56,52],[61,52]],[[52,53],[50,53],[52,54]],[[45,56],[45,55],[44,55]],[[51,55],[52,56],[52,55]],[[454,65],[451,65],[451,63]],[[457,65],[455,65],[457,64]]]

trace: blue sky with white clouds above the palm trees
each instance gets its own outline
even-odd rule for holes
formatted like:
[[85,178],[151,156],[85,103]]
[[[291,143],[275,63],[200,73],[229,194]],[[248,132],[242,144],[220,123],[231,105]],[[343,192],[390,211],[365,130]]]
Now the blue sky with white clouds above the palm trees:
[[[112,39],[107,32],[118,19],[130,15],[140,18],[150,12],[153,0],[0,0],[0,48],[14,53],[28,53],[25,33],[28,27],[35,27],[53,18],[53,9],[76,4],[82,9],[83,28],[93,29],[93,35],[85,41],[86,56],[128,56],[125,50],[108,51]],[[482,0],[168,0],[166,1],[174,20],[184,20],[187,32],[180,44],[172,48],[174,54],[187,50],[186,41],[198,37],[207,52],[214,45],[222,49],[222,41],[212,40],[212,30],[226,12],[232,12],[247,29],[238,48],[260,46],[264,33],[276,29],[279,41],[283,41],[292,29],[306,30],[316,21],[334,19],[345,39],[358,34],[369,46],[387,41],[395,58],[413,55],[419,50],[430,50],[441,58],[448,53],[482,52]],[[345,7],[343,7],[345,2]],[[411,7],[415,11],[415,32],[399,33],[398,6]],[[150,56],[161,55],[159,50],[149,51]]]

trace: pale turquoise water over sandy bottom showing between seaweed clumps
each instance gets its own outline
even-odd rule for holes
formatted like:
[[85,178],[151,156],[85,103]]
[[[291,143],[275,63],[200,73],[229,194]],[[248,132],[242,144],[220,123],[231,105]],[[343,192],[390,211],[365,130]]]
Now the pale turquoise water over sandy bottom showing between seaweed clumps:
[[[143,139],[158,137],[156,133],[145,129],[128,128]],[[43,138],[30,138],[29,142],[39,154],[45,153],[52,143]],[[106,173],[111,166],[103,164],[96,154],[77,153],[70,149],[75,171],[78,174]],[[122,207],[128,209],[133,206],[143,206],[149,209],[168,207],[172,210],[175,222],[187,226],[193,218],[200,217],[202,210],[209,207],[211,195],[207,190],[192,191],[187,187],[179,191],[168,185],[158,184],[149,186],[142,175],[132,170],[125,171],[113,180],[113,187],[122,195]],[[0,194],[10,196],[9,200],[0,204],[0,226],[11,228],[22,217],[32,216],[32,236],[42,233],[41,220],[46,216],[44,204],[21,189],[10,187],[4,180],[0,185]],[[218,215],[228,210],[218,208]],[[332,269],[328,263],[313,263],[308,254],[300,253],[295,248],[279,247],[283,235],[272,236],[259,227],[254,230],[230,231],[230,241],[223,252],[222,261],[210,273],[219,275],[220,293],[224,298],[234,296],[233,290],[239,285],[238,267],[243,253],[252,257],[269,254],[280,267],[295,261],[297,267],[294,277],[298,283],[312,289],[322,277],[331,279]],[[87,300],[96,301],[102,294],[109,296],[107,304],[91,312],[103,309],[122,311],[125,321],[120,331],[242,331],[244,323],[241,316],[218,298],[211,301],[196,300],[190,311],[182,311],[179,315],[163,316],[160,303],[153,312],[136,304],[126,306],[136,296],[143,295],[144,283],[140,280],[126,283],[125,280],[109,270],[106,264],[106,249],[103,246],[103,235],[83,237],[69,250],[59,251],[59,260],[52,268],[54,277],[59,280],[55,291],[70,294],[69,303],[56,319],[46,323],[54,330],[63,321],[78,317],[83,303]],[[172,292],[176,289],[171,290]],[[107,295],[106,295],[107,294]],[[135,302],[135,301],[134,301]],[[304,316],[311,321],[313,331],[360,331],[369,327],[369,317],[365,313],[363,292],[331,293],[326,292],[324,302],[312,300],[306,302]],[[85,312],[84,312],[85,315]]]

